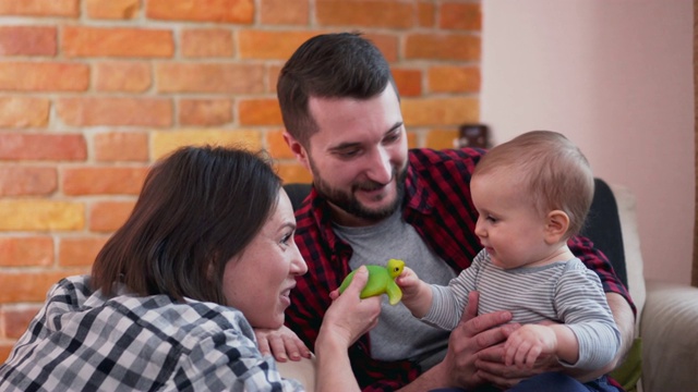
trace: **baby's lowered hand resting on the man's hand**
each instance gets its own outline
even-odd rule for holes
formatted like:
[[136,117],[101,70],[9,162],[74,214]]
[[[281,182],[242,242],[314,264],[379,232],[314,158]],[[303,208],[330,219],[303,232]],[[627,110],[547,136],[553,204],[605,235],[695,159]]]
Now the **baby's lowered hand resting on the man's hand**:
[[532,369],[541,354],[555,354],[557,336],[552,328],[526,324],[512,332],[504,343],[504,364]]

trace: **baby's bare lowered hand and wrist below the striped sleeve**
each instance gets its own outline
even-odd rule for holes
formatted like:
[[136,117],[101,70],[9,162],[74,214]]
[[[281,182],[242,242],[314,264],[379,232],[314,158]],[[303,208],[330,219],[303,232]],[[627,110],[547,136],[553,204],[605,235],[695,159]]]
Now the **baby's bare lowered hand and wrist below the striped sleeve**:
[[514,331],[504,344],[504,363],[507,366],[532,369],[542,354],[575,364],[579,357],[575,333],[564,324],[526,324]]

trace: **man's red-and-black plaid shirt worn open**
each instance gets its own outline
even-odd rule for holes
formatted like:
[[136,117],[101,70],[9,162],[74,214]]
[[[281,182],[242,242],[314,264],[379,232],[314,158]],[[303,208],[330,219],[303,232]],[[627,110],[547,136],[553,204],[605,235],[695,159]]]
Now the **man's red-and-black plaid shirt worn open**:
[[[470,198],[470,175],[484,150],[411,149],[409,151],[402,218],[411,224],[456,273],[470,266],[482,248],[474,235],[478,213]],[[314,347],[329,292],[337,289],[349,270],[352,249],[332,229],[327,203],[315,189],[296,213],[296,243],[309,265],[297,279],[287,309],[287,326]],[[600,277],[604,291],[623,295],[633,309],[627,290],[605,256],[582,237],[569,242],[573,252]],[[416,379],[421,370],[410,362],[380,362],[371,357],[369,335],[349,348],[352,367],[364,391],[393,391]],[[406,336],[407,338],[407,336]]]

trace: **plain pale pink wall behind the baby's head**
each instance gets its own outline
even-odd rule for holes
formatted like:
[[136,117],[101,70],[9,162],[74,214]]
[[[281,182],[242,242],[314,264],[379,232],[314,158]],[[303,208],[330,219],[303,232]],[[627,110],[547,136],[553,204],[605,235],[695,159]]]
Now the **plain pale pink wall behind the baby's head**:
[[691,0],[483,1],[481,121],[566,134],[637,197],[645,274],[690,282]]

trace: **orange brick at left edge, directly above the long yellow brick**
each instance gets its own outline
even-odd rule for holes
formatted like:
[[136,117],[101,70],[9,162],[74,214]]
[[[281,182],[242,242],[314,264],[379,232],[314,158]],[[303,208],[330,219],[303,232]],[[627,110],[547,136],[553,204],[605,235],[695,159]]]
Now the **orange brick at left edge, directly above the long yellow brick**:
[[0,196],[47,196],[57,184],[56,168],[0,167]]

